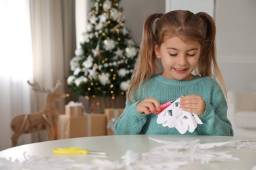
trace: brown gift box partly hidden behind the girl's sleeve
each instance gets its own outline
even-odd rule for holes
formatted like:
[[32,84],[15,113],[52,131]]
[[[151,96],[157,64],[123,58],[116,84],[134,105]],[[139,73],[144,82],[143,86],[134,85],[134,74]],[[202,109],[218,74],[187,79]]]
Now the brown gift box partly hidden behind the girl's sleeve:
[[104,114],[106,115],[106,135],[115,135],[114,124],[117,118],[121,115],[123,109],[105,109]]

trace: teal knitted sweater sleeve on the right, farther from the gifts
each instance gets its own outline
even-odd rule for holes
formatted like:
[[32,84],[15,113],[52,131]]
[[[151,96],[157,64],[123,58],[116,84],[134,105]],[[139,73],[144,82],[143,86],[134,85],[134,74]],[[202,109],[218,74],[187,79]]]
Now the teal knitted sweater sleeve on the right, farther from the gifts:
[[234,135],[231,123],[226,116],[226,99],[220,91],[221,89],[213,93],[211,103],[205,102],[205,110],[199,116],[203,124],[197,127],[200,135]]

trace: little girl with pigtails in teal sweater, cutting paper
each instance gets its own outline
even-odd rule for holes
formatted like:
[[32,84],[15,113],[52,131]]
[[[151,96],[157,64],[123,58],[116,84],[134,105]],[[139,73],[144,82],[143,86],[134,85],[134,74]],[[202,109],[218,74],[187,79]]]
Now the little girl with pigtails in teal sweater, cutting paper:
[[180,134],[157,124],[158,115],[152,112],[159,113],[161,104],[182,95],[181,109],[203,122],[184,134],[233,135],[215,56],[215,29],[205,12],[174,10],[146,19],[126,107],[114,127],[116,135]]

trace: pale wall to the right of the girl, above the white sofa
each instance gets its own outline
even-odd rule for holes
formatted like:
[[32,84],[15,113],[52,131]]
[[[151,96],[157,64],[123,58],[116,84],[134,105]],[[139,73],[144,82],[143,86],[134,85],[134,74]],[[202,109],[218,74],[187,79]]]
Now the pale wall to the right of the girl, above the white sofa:
[[227,90],[256,90],[256,1],[217,0],[217,56]]

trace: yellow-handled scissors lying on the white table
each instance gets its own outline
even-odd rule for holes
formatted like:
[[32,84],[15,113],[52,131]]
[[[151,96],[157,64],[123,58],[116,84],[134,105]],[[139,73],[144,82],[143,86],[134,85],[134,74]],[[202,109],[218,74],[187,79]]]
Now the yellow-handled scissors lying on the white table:
[[67,148],[54,148],[54,154],[95,154],[95,155],[107,155],[106,152],[92,151],[88,149],[76,148],[76,147],[67,147]]

